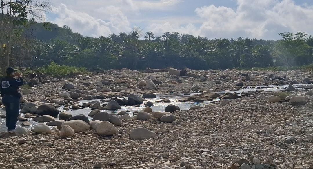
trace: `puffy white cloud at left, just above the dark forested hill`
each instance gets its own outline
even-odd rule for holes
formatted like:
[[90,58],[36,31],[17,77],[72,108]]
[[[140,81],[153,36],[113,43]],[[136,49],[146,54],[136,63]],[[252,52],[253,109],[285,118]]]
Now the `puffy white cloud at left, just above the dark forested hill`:
[[108,36],[110,33],[130,29],[127,17],[114,6],[104,9],[104,13],[109,16],[110,21],[95,19],[85,12],[73,11],[64,4],[61,4],[57,9],[56,14],[58,17],[53,22],[59,26],[68,25],[74,32],[79,32],[82,35],[92,37]]

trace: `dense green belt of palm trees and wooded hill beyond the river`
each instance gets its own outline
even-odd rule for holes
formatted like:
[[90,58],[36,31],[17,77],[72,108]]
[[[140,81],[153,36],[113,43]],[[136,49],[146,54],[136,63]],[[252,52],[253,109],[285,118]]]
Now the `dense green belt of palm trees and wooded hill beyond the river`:
[[[68,26],[28,21],[22,42],[15,41],[16,65],[42,67],[51,62],[87,69],[110,68],[263,68],[302,66],[313,62],[313,38],[304,33],[281,33],[281,40],[250,38],[207,39],[164,32],[121,32],[90,38]],[[23,58],[16,59],[21,57]]]

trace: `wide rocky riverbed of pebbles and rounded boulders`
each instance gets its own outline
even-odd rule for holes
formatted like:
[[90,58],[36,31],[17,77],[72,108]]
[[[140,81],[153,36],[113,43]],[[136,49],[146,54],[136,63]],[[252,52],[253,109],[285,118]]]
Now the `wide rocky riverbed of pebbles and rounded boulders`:
[[[312,169],[311,78],[300,70],[175,69],[51,77],[22,91],[19,120],[44,123],[1,133],[0,167]],[[158,93],[202,104],[184,110]]]

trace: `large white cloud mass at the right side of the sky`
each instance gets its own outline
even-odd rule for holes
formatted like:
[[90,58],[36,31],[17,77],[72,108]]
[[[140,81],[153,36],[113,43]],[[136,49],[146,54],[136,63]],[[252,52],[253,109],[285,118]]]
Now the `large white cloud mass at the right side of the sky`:
[[284,31],[311,32],[313,8],[296,5],[292,0],[238,0],[237,10],[228,7],[197,8],[206,21],[200,34],[208,37],[255,37],[278,39]]

